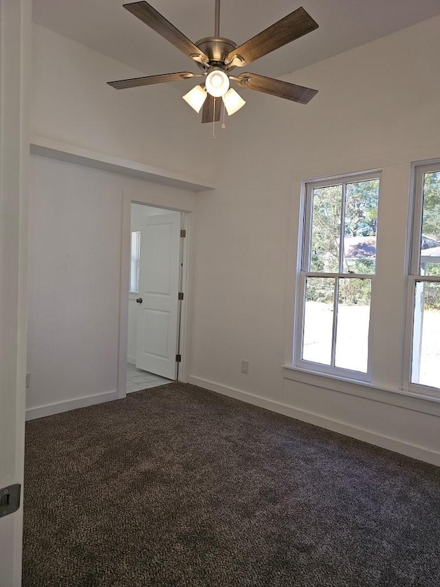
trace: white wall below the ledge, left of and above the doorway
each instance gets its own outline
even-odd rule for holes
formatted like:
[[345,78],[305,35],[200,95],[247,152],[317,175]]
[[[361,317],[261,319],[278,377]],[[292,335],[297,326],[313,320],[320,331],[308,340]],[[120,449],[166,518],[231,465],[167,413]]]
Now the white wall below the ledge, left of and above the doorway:
[[195,205],[181,189],[31,157],[28,417],[116,397],[124,191]]

